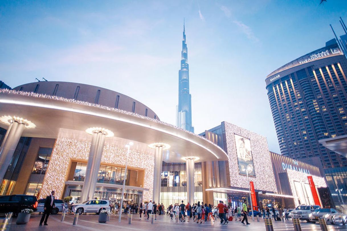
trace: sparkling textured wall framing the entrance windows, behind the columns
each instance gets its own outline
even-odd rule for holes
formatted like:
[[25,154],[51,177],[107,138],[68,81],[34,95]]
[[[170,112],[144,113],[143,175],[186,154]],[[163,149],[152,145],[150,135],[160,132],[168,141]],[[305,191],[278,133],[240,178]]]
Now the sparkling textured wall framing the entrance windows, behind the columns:
[[[87,160],[90,145],[90,141],[79,141],[68,138],[57,139],[43,181],[41,197],[49,195],[52,190],[56,191],[57,196],[62,195],[70,160]],[[105,144],[101,162],[125,166],[126,154],[126,149]],[[149,201],[152,199],[153,193],[153,155],[130,151],[128,166],[145,169],[143,187],[149,190],[143,192],[143,200]]]

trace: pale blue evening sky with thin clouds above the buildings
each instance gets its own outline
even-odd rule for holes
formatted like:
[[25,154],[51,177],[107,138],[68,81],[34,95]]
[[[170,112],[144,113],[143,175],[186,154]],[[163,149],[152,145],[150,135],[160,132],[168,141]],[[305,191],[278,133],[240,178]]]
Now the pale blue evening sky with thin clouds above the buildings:
[[347,1],[0,1],[0,80],[79,82],[130,96],[176,123],[185,18],[192,121],[222,121],[279,153],[265,78],[344,34]]

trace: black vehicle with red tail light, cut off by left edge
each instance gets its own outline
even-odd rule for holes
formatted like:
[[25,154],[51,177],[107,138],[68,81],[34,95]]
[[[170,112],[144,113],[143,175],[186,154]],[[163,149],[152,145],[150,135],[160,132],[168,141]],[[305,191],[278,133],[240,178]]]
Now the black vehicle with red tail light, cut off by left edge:
[[0,196],[0,213],[12,212],[17,216],[24,208],[37,210],[37,199],[29,195]]

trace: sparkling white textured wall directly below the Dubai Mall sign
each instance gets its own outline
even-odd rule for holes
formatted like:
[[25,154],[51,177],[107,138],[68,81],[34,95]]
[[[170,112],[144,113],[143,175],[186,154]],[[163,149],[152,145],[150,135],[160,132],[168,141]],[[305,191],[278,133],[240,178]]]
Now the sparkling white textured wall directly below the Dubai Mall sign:
[[[290,170],[290,169],[287,169],[287,175],[288,175],[288,179],[289,179],[291,193],[293,194],[293,196],[298,197],[296,190],[295,190],[294,181],[299,181],[299,182],[308,184],[307,176],[311,176],[311,175],[307,175],[303,172],[298,172],[298,171],[294,171],[294,170]],[[325,179],[323,177],[318,177],[318,176],[312,175],[312,179],[313,179],[313,182],[314,182],[316,187],[318,187],[318,188],[319,187],[327,187],[327,183],[325,182]],[[294,199],[294,203],[295,203],[295,206],[299,205],[298,198]]]

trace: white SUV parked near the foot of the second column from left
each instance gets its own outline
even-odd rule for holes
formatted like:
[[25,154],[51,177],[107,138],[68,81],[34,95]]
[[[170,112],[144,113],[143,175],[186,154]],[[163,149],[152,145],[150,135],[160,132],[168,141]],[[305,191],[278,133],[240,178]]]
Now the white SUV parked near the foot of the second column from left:
[[107,200],[89,200],[82,204],[73,204],[71,210],[74,213],[96,213],[99,214],[101,210],[110,211],[110,202]]

